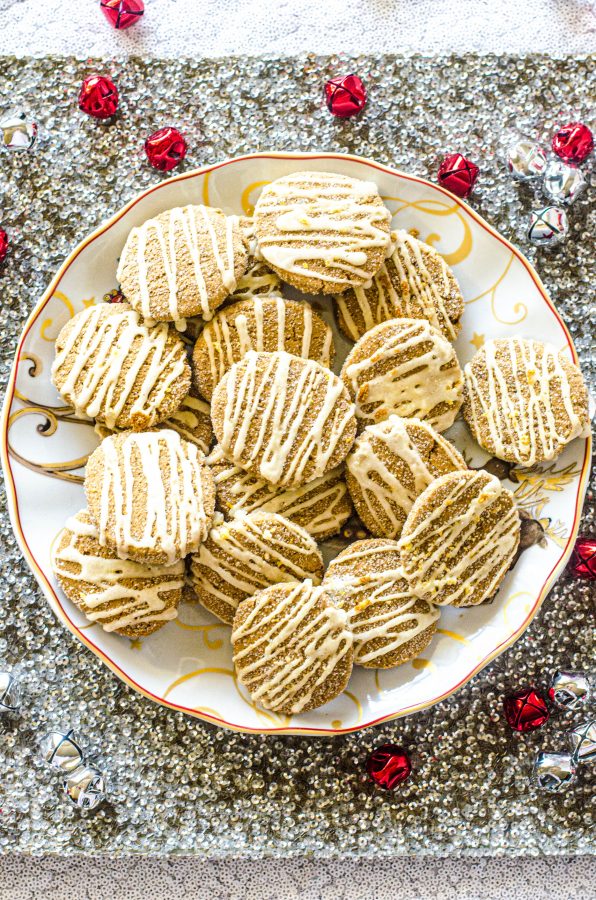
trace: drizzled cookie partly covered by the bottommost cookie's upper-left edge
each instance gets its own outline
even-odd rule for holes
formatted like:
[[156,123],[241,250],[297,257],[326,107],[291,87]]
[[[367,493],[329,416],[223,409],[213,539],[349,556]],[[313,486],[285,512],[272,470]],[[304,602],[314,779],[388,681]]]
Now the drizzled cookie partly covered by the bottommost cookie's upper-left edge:
[[197,600],[229,624],[256,591],[304,578],[319,584],[322,577],[323,557],[304,528],[261,511],[216,525],[190,561]]

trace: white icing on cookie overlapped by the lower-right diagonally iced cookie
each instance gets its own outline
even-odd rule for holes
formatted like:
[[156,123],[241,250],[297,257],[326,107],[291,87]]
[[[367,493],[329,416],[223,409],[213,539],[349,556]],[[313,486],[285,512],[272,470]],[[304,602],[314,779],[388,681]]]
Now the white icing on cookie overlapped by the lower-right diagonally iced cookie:
[[[379,533],[387,538],[399,537],[416,498],[431,481],[443,474],[425,462],[412,437],[412,429],[414,433],[419,430],[426,432],[434,444],[441,448],[453,469],[467,468],[455,447],[421,419],[402,419],[392,415],[383,422],[365,428],[348,454],[346,466],[362,492],[360,502],[364,504],[371,520],[378,523]],[[389,454],[403,461],[412,475],[411,485],[400,479],[394,462],[386,461],[375,450],[377,441]],[[358,499],[355,500],[357,506]]]

